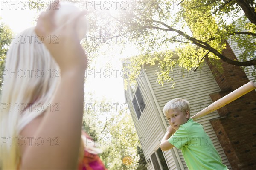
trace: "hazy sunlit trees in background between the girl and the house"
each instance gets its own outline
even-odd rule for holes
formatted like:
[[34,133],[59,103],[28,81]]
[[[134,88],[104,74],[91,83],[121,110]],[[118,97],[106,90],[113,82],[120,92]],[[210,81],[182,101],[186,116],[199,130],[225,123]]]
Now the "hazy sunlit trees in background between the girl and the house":
[[86,96],[83,129],[96,142],[96,147],[103,150],[100,157],[105,166],[111,170],[137,167],[143,170],[144,156],[142,150],[137,151],[141,144],[128,108],[120,109],[118,103],[106,98],[96,99],[93,93]]

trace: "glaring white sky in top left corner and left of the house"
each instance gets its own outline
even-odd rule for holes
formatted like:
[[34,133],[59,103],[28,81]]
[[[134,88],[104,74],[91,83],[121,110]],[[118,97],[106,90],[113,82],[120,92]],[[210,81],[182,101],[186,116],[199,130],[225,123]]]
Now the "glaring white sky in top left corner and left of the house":
[[[15,34],[35,26],[33,20],[36,16],[36,10],[29,9],[28,1],[0,1],[1,22],[8,25]],[[97,98],[105,96],[113,99],[113,102],[124,103],[123,70],[120,58],[125,58],[128,54],[129,56],[135,55],[135,51],[125,49],[122,55],[112,53],[99,56],[96,68],[87,70],[85,92],[92,92]],[[110,68],[106,67],[106,63],[111,65]]]

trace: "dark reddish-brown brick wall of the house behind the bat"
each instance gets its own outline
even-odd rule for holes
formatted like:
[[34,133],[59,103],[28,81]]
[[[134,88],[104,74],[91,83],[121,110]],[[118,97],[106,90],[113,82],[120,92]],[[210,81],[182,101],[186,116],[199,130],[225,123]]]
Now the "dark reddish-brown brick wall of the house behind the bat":
[[[230,46],[223,54],[230,59],[236,57]],[[206,59],[209,64],[209,59]],[[221,61],[222,62],[222,61]],[[216,71],[214,66],[210,69],[217,73],[217,81],[221,92],[210,94],[212,101],[227,95],[233,90],[249,82],[246,74],[239,66],[222,62],[223,73]],[[220,118],[210,120],[213,129],[226,153],[233,170],[256,169],[256,92],[252,91],[227,104],[218,110]]]

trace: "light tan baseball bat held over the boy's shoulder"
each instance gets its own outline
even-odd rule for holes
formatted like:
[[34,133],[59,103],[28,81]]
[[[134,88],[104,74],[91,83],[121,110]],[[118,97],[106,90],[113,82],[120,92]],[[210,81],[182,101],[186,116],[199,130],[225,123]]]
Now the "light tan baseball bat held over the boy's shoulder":
[[213,102],[212,104],[210,104],[205,109],[198,112],[197,114],[193,115],[192,119],[195,121],[204,115],[207,115],[217,109],[220,109],[221,107],[224,107],[225,105],[231,103],[232,101],[236,100],[237,98],[240,98],[242,95],[245,95],[254,89],[256,89],[256,85],[253,83],[253,81],[250,81],[249,83],[244,84],[243,86],[239,87],[233,92]]

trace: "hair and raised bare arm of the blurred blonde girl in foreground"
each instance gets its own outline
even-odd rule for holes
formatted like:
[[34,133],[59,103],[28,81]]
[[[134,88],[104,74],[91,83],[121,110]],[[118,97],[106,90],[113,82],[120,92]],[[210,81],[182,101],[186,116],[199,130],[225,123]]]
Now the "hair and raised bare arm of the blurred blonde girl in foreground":
[[84,12],[57,28],[52,4],[20,34],[25,43],[13,41],[7,54],[5,69],[16,75],[4,76],[1,95],[2,170],[79,167],[87,55],[75,26]]

